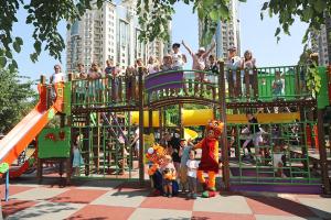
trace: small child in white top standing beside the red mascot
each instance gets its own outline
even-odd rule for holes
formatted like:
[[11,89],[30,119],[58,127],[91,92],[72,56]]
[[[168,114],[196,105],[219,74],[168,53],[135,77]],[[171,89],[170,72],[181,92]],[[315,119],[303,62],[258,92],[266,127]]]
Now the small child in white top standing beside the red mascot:
[[199,167],[199,162],[194,160],[195,151],[191,148],[190,160],[186,162],[188,166],[188,180],[189,180],[189,197],[196,199],[196,169]]

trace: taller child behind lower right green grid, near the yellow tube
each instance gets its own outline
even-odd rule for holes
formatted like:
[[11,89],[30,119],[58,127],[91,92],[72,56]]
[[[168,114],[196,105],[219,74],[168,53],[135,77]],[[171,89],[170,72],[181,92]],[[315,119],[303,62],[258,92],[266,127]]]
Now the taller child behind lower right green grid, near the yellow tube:
[[[256,114],[261,112],[264,109],[260,108],[257,110]],[[248,130],[250,132],[248,139],[244,142],[243,144],[243,151],[244,151],[244,156],[245,156],[245,148],[248,145],[248,143],[250,141],[253,141],[253,144],[255,146],[255,156],[258,160],[259,155],[258,155],[258,144],[259,142],[263,142],[263,138],[261,138],[261,131],[259,129],[258,125],[258,121],[256,119],[256,114],[253,114],[252,112],[247,111],[246,112],[246,118],[248,120]]]

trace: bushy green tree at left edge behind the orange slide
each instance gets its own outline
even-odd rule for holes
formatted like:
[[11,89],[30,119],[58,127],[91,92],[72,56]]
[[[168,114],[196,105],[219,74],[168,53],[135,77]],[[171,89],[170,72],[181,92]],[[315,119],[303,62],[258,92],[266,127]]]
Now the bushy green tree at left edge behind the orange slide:
[[35,105],[33,81],[15,72],[0,69],[0,132],[10,131]]

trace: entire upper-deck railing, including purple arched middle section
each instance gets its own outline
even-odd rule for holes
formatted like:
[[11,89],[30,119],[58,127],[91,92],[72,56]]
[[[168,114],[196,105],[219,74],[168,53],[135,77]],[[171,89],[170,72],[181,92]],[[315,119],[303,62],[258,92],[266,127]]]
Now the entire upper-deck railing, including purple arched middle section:
[[[319,68],[325,72],[325,68]],[[225,95],[220,90],[220,73],[201,70],[160,72],[142,77],[145,103],[173,97],[218,102],[311,99],[307,89],[307,67],[280,66],[224,72]],[[138,76],[77,79],[72,84],[72,106],[136,106]]]

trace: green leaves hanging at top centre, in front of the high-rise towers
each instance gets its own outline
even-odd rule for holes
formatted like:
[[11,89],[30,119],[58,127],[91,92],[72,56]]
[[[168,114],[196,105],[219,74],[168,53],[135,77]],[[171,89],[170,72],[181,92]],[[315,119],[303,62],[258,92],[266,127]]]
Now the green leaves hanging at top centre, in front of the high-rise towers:
[[[138,0],[139,23],[143,26],[143,32],[140,35],[142,41],[169,40],[169,22],[174,13],[174,3],[180,0]],[[241,1],[245,2],[246,0]],[[182,2],[185,4],[192,3],[193,13],[196,12],[199,19],[204,22],[202,44],[211,42],[220,20],[229,20],[227,7],[229,0],[182,0]]]

